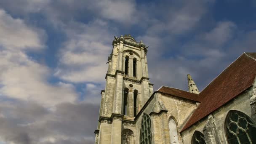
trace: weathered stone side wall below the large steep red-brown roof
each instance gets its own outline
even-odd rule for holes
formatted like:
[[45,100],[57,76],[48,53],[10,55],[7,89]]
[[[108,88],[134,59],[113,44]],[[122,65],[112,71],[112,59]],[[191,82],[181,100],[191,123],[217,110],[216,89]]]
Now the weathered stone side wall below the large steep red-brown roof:
[[[253,113],[251,105],[250,105],[250,91],[252,88],[249,89],[248,92],[244,92],[237,96],[236,98],[229,101],[224,106],[220,107],[216,111],[212,112],[209,117],[205,117],[196,124],[192,125],[191,127],[187,128],[185,131],[181,133],[183,144],[191,144],[192,136],[195,131],[200,131],[205,135],[205,141],[207,144],[227,144],[227,139],[225,137],[225,119],[230,110],[237,110],[240,112],[245,113],[251,119],[256,122],[256,115]],[[212,118],[211,118],[212,117]],[[216,127],[216,131],[207,130],[209,126],[209,122],[212,122],[213,126]],[[211,125],[210,125],[211,126]],[[216,139],[209,140],[208,133],[213,134],[213,138]]]

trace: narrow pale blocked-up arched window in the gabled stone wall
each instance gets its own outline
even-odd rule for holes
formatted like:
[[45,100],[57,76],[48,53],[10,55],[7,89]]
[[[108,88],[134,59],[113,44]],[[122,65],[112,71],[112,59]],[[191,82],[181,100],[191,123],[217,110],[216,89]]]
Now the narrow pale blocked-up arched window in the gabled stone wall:
[[173,118],[169,119],[169,133],[171,144],[179,144],[177,125]]

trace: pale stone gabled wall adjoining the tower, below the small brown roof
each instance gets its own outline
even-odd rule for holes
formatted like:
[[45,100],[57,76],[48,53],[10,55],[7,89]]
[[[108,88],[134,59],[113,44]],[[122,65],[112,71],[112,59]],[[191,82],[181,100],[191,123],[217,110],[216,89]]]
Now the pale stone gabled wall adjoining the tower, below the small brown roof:
[[[195,108],[195,101],[155,93],[153,99],[136,120],[136,133],[138,134],[136,141],[138,141],[139,144],[139,132],[143,113],[146,113],[151,118],[153,142],[155,144],[170,144],[168,128],[169,118],[172,117],[176,120],[177,129],[179,131]],[[178,136],[179,141],[177,141],[177,143],[182,144],[181,135],[178,134]]]

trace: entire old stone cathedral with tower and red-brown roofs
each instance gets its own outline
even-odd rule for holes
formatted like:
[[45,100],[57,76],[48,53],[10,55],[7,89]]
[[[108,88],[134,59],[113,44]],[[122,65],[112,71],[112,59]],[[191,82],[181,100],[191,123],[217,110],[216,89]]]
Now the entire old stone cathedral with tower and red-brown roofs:
[[256,144],[256,53],[242,53],[201,92],[149,81],[148,47],[114,37],[95,144]]

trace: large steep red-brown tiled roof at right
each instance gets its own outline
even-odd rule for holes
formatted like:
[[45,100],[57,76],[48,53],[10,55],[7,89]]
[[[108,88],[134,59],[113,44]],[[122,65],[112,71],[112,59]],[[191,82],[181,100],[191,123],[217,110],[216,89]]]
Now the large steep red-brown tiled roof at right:
[[181,131],[211,114],[253,85],[256,76],[256,53],[243,53],[199,93],[201,104]]

